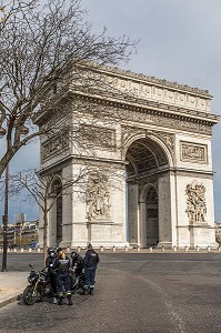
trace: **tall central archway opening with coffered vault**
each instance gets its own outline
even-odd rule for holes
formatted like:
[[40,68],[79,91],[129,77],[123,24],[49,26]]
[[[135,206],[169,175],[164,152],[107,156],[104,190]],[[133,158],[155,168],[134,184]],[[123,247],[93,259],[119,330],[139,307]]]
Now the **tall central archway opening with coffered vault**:
[[125,161],[129,243],[148,248],[170,242],[170,210],[167,216],[160,212],[167,203],[170,206],[165,195],[170,193],[169,159],[163,144],[150,138],[137,139],[129,145]]

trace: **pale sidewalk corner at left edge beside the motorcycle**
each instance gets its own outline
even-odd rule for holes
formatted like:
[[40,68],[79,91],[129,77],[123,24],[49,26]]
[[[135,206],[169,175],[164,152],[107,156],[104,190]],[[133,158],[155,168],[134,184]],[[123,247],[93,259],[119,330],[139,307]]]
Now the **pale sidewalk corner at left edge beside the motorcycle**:
[[29,272],[0,272],[0,307],[14,302],[28,285]]

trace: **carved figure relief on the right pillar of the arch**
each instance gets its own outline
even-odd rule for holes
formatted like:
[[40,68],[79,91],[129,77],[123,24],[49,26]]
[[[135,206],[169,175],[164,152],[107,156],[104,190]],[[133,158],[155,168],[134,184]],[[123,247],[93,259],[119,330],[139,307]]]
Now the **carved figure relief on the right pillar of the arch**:
[[194,181],[192,184],[187,185],[185,194],[188,196],[185,213],[188,214],[189,223],[204,223],[207,214],[204,185]]

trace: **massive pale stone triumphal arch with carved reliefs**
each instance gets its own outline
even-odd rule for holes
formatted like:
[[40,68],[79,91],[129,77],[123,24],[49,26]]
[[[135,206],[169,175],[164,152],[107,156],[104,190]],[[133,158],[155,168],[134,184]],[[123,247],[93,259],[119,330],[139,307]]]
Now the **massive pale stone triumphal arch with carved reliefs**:
[[90,169],[87,184],[74,183],[50,210],[49,245],[214,246],[211,135],[219,118],[209,92],[117,68],[81,71],[93,84],[69,80],[59,101],[58,87],[53,112],[36,120],[40,128],[61,123],[60,104],[72,127],[71,135],[41,138],[41,173],[58,174],[56,191]]

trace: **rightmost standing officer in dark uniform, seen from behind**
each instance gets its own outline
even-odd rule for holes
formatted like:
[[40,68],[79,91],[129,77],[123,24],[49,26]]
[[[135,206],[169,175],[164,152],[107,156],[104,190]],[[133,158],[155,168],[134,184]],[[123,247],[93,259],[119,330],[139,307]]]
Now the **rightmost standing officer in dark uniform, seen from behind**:
[[98,253],[93,250],[92,245],[88,245],[88,250],[84,255],[84,291],[93,295],[96,270],[100,259]]

